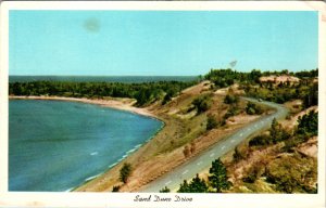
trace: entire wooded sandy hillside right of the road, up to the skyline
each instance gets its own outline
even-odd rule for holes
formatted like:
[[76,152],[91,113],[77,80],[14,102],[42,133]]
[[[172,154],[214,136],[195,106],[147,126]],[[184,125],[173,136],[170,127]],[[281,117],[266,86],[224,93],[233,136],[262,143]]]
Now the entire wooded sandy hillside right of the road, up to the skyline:
[[[317,193],[318,78],[317,70],[290,73],[251,72],[248,83],[241,73],[211,70],[208,78],[222,83],[237,82],[248,96],[284,104],[286,119],[274,120],[269,129],[258,132],[221,159],[233,184],[227,193]],[[235,84],[218,89],[228,94]],[[209,181],[209,169],[199,173]],[[209,183],[208,183],[209,184]]]

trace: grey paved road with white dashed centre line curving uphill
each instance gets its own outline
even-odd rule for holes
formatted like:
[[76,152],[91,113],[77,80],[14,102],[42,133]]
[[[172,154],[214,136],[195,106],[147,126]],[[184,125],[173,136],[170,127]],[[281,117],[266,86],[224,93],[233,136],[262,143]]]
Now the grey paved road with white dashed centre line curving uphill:
[[[243,98],[248,101],[258,102],[254,99]],[[223,141],[217,142],[211,146],[208,151],[202,154],[189,159],[187,162],[174,169],[155,181],[143,186],[140,192],[159,192],[162,187],[167,186],[170,190],[176,190],[185,179],[191,179],[196,174],[206,168],[210,168],[212,161],[229,151],[233,151],[240,142],[246,140],[249,135],[254,132],[262,131],[271,127],[272,120],[283,119],[288,114],[288,109],[283,105],[272,102],[260,102],[261,104],[267,105],[276,109],[272,115],[262,117],[261,119],[251,122],[250,125],[238,130],[236,133],[225,138]]]

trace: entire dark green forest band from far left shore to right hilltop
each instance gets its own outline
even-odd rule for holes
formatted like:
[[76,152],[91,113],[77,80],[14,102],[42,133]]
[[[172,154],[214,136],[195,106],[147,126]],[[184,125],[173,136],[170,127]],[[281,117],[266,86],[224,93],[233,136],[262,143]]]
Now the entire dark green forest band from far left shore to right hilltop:
[[[281,82],[261,81],[263,76],[292,76],[299,78],[298,82],[289,80]],[[178,95],[181,90],[205,79],[214,83],[215,89],[226,88],[238,83],[244,91],[246,96],[262,99],[276,103],[300,99],[304,108],[317,105],[318,82],[314,79],[318,76],[318,69],[292,73],[261,72],[253,69],[250,73],[237,72],[233,69],[211,69],[197,81],[153,81],[141,83],[122,82],[75,82],[75,81],[26,81],[10,82],[10,95],[55,95],[88,99],[130,98],[136,99],[137,106],[145,106],[155,101],[161,101],[164,105],[173,96]]]

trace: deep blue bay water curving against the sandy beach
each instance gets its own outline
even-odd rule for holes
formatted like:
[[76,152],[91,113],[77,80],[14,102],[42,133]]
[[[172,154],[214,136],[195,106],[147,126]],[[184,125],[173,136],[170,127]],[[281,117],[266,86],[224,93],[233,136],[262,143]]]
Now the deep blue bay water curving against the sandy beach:
[[91,104],[10,101],[9,190],[70,190],[114,166],[162,125]]

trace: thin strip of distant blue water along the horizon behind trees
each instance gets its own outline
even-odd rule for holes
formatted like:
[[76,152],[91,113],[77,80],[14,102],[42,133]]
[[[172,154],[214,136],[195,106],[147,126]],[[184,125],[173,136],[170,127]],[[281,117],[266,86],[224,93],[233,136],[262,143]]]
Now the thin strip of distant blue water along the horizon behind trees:
[[193,81],[197,76],[9,76],[9,82],[26,81],[104,81],[139,83],[149,81]]

